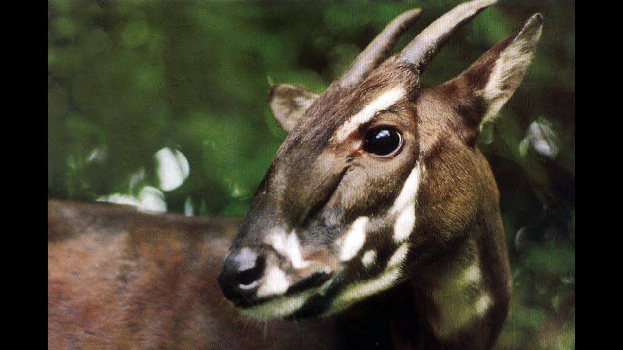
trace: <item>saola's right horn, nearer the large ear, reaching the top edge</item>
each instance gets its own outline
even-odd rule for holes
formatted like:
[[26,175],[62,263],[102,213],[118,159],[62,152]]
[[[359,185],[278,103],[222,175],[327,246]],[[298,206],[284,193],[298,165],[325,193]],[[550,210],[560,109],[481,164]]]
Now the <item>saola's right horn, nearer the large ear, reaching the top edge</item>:
[[449,39],[457,29],[469,22],[485,7],[495,4],[497,0],[474,0],[454,7],[432,22],[400,52],[401,59],[416,65],[422,73],[434,57],[437,50]]

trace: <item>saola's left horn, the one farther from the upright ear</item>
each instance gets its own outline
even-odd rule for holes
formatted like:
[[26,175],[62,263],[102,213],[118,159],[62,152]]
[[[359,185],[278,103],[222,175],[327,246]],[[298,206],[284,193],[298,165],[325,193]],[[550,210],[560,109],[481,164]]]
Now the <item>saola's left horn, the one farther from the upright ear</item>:
[[340,86],[351,87],[361,82],[376,66],[381,64],[388,57],[389,50],[396,44],[400,35],[412,26],[421,13],[421,9],[412,9],[394,18],[342,75]]

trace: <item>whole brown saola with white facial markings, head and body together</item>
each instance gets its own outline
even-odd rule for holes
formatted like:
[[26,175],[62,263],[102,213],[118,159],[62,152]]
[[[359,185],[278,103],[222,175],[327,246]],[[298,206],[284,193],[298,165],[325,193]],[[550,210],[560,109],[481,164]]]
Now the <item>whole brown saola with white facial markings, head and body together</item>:
[[275,85],[288,136],[244,220],[48,201],[48,348],[491,348],[510,276],[475,143],[541,16],[449,82],[421,78],[492,2],[455,7],[386,59],[420,11],[401,14],[321,95]]

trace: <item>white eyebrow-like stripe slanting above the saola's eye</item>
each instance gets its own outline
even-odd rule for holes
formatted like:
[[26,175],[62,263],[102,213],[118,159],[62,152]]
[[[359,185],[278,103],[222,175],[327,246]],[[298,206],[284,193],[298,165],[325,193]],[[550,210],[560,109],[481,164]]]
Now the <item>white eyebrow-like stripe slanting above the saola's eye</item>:
[[346,140],[359,126],[371,120],[379,111],[386,110],[394,105],[394,103],[398,102],[406,93],[405,88],[401,85],[392,87],[386,92],[381,93],[373,102],[364,106],[358,113],[351,116],[350,119],[338,129],[333,139],[338,142]]

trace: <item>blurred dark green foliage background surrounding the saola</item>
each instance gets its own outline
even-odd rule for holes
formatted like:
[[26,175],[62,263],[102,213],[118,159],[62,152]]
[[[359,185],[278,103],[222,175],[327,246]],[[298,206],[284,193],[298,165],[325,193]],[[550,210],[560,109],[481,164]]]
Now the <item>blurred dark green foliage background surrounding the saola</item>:
[[[48,197],[93,201],[158,187],[154,154],[178,149],[188,179],[169,211],[243,215],[285,132],[272,82],[321,92],[412,7],[397,49],[457,1],[49,1]],[[498,348],[575,347],[575,4],[502,2],[454,35],[424,75],[454,77],[534,12],[543,38],[480,146],[500,185],[515,295]],[[395,50],[397,50],[395,49]],[[543,156],[533,140],[555,157]],[[536,132],[535,132],[536,130]]]

